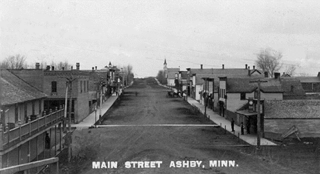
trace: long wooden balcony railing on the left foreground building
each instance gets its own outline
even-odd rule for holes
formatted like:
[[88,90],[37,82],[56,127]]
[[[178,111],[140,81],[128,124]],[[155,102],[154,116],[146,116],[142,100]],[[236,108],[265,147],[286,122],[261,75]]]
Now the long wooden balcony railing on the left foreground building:
[[28,123],[23,125],[19,125],[14,129],[7,130],[6,132],[0,132],[0,136],[2,136],[2,145],[9,145],[15,142],[19,142],[32,136],[36,132],[40,132],[41,130],[49,127],[64,118],[64,109],[55,110],[49,114],[45,114],[44,116],[38,116],[36,120],[31,121],[29,119]]

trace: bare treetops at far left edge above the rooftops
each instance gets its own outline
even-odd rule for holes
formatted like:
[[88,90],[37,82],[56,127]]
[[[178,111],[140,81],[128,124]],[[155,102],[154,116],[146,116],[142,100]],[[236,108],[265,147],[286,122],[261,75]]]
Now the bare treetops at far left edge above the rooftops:
[[1,62],[1,69],[23,69],[23,66],[27,66],[24,55],[10,55]]

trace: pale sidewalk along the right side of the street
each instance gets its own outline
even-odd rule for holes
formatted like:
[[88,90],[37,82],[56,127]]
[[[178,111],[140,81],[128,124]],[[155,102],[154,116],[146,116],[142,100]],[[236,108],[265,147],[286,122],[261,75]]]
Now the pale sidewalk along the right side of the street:
[[[204,105],[200,104],[195,99],[192,99],[191,97],[187,98],[188,103],[191,105],[195,105],[196,108],[199,108],[202,114],[204,114]],[[256,145],[256,135],[252,134],[244,134],[241,135],[241,127],[238,125],[235,125],[235,132],[231,132],[231,121],[228,121],[227,119],[224,119],[224,117],[219,116],[219,114],[213,112],[213,110],[210,110],[206,108],[206,114],[210,117],[210,120],[217,123],[217,125],[221,125],[222,128],[226,126],[226,130],[230,132],[231,134],[235,134],[235,136],[238,136],[238,133],[240,135],[241,140],[244,140],[245,142],[248,142],[250,145]],[[261,145],[276,145],[274,142],[271,142],[265,138],[261,138]]]

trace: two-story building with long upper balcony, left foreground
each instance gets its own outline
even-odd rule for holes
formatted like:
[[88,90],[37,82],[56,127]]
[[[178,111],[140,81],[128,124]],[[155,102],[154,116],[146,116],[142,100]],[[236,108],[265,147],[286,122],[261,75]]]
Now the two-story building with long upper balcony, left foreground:
[[63,106],[44,114],[48,95],[8,70],[0,81],[0,169],[55,156],[62,150]]

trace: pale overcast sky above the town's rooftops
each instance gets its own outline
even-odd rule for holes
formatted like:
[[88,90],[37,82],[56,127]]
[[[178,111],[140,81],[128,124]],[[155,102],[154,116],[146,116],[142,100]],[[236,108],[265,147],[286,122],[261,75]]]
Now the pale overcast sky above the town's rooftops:
[[[0,2],[0,61],[67,60],[80,69],[109,62],[133,66],[135,77],[169,68],[244,68],[256,53],[282,52],[296,75],[320,71],[320,1]],[[282,72],[280,72],[282,73]]]

